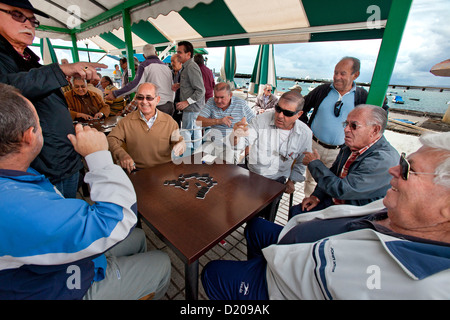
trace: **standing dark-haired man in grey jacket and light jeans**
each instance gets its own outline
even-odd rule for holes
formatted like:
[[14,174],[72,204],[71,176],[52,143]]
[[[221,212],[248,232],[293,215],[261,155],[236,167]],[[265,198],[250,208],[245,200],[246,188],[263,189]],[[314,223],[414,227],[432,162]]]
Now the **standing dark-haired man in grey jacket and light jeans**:
[[[175,84],[172,90],[180,88],[180,102],[176,109],[183,111],[181,129],[186,148],[197,149],[201,145],[202,128],[195,123],[200,110],[205,105],[205,86],[200,67],[195,63],[194,47],[188,41],[181,41],[177,46],[178,59],[183,64],[180,83]],[[191,142],[189,142],[191,141]]]

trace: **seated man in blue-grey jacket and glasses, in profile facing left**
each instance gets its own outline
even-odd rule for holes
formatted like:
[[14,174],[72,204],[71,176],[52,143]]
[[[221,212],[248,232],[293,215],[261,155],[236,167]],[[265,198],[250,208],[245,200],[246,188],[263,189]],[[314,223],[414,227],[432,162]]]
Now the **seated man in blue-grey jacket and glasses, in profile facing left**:
[[383,198],[390,187],[388,170],[399,159],[397,150],[383,136],[386,124],[382,108],[356,106],[342,124],[345,146],[331,168],[321,161],[317,150],[307,152],[303,164],[317,186],[301,204],[291,207],[289,217],[337,204],[362,206]]

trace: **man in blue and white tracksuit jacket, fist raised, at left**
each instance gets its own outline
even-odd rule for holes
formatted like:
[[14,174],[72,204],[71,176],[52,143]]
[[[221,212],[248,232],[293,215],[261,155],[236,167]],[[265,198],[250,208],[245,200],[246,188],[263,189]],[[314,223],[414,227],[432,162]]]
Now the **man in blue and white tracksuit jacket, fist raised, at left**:
[[75,132],[68,138],[89,167],[93,205],[64,198],[29,167],[43,145],[38,115],[0,84],[0,300],[160,298],[170,260],[147,252],[134,229],[131,181],[113,164],[103,133],[81,125]]

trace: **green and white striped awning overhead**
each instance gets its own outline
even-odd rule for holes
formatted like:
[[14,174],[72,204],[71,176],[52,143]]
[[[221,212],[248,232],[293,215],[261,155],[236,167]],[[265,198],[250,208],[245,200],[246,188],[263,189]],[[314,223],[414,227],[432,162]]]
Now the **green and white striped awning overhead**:
[[382,38],[392,0],[31,0],[40,38],[91,39],[119,54],[125,49],[124,10],[136,52],[152,43],[196,48]]

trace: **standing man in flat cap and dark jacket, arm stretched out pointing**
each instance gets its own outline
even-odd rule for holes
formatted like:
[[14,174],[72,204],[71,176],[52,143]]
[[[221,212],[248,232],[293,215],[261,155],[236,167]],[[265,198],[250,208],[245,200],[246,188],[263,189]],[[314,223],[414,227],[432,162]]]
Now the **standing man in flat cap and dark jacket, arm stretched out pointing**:
[[28,48],[40,24],[36,15],[49,18],[29,0],[0,0],[0,83],[18,88],[39,115],[44,147],[31,167],[49,177],[65,197],[74,198],[83,166],[67,138],[74,128],[61,87],[68,84],[66,76],[90,80],[97,78],[96,67],[107,66],[86,62],[42,66]]

